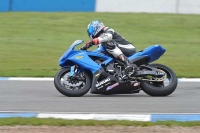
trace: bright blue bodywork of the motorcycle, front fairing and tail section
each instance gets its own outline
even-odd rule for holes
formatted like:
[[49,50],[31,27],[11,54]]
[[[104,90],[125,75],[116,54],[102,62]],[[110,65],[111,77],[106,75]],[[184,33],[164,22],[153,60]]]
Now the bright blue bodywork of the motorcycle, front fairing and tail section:
[[[94,62],[91,57],[103,58],[103,64],[107,65],[112,62],[114,59],[110,56],[102,54],[105,52],[105,48],[103,46],[99,46],[94,51],[85,51],[85,50],[74,50],[74,47],[81,44],[82,40],[75,41],[70,48],[63,54],[63,56],[59,60],[59,64],[61,67],[71,67],[75,64],[78,64],[80,67],[90,70],[93,74],[102,68],[101,64],[97,64]],[[150,46],[143,51],[139,51],[134,55],[128,57],[131,61],[137,61],[136,64],[142,65],[153,62],[160,58],[163,55],[165,49],[160,45]]]

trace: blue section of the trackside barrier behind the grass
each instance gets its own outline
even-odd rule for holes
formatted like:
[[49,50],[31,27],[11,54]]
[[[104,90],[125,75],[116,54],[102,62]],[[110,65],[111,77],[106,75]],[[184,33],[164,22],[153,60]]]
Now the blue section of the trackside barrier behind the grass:
[[0,0],[0,11],[94,12],[95,0]]

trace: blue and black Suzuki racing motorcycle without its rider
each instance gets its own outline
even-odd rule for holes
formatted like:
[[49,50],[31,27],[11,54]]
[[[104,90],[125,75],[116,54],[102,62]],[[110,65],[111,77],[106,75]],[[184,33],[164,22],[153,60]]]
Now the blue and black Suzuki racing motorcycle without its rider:
[[[128,56],[137,66],[135,72],[124,71],[125,65],[106,52],[103,45],[88,51],[75,50],[83,40],[76,40],[61,56],[61,69],[54,77],[56,89],[65,96],[78,97],[89,90],[93,94],[130,94],[143,90],[150,96],[168,96],[177,87],[176,74],[169,67],[150,64],[159,59],[165,49],[150,46]],[[126,52],[123,52],[126,55]]]

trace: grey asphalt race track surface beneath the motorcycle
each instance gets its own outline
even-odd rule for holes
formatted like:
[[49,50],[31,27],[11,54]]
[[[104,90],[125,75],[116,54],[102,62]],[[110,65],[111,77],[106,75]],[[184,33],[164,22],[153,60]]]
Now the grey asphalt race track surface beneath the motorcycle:
[[173,94],[66,97],[53,81],[0,81],[0,111],[77,113],[199,113],[200,82],[179,82]]

